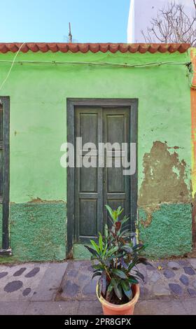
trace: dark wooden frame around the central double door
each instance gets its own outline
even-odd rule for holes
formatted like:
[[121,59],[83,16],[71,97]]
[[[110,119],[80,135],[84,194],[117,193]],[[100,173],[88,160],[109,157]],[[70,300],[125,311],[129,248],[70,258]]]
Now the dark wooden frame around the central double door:
[[[137,131],[138,131],[138,99],[99,99],[99,98],[67,98],[66,99],[66,141],[74,145],[75,134],[75,106],[104,106],[123,107],[129,106],[130,111],[130,143],[136,143],[137,153]],[[74,145],[75,147],[75,145]],[[130,221],[132,231],[135,231],[137,221],[137,163],[136,172],[130,177]],[[75,203],[75,168],[66,168],[66,206],[67,206],[67,228],[66,228],[66,258],[73,258],[73,236],[74,236],[74,203]]]

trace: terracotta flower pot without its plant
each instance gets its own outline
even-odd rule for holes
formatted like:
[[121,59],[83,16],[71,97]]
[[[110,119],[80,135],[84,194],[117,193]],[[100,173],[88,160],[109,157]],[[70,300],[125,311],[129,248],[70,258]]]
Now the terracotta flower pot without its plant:
[[133,299],[130,302],[127,302],[127,304],[123,305],[116,305],[111,304],[111,302],[107,302],[104,297],[99,297],[98,295],[98,283],[97,283],[97,298],[99,302],[102,304],[102,309],[104,311],[104,315],[132,315],[134,314],[134,306],[139,300],[139,285],[133,284],[132,285],[132,291],[133,291]]

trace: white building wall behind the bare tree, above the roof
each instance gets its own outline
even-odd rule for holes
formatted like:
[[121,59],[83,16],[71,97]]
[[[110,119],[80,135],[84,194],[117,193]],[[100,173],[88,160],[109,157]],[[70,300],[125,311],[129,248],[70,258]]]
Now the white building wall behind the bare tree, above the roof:
[[[127,28],[128,43],[143,43],[144,36],[141,31],[146,31],[151,26],[151,18],[156,17],[158,10],[167,6],[169,0],[130,0],[130,15]],[[191,16],[194,6],[193,0],[176,0],[185,6],[186,13]],[[158,41],[157,41],[158,42]]]

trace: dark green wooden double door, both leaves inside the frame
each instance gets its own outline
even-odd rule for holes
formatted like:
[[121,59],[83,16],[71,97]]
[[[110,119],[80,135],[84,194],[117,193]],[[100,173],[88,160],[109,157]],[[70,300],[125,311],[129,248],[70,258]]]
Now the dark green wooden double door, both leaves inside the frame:
[[[96,239],[104,223],[109,223],[105,204],[114,209],[122,206],[130,215],[130,176],[123,175],[122,148],[105,150],[104,167],[98,165],[99,143],[130,143],[130,107],[76,106],[75,150],[77,137],[82,137],[82,144],[75,153],[74,241],[84,243]],[[93,167],[78,168],[76,161],[82,163],[90,151],[86,143],[96,146],[91,148]],[[114,166],[115,155],[119,167]],[[106,167],[107,161],[112,167]]]

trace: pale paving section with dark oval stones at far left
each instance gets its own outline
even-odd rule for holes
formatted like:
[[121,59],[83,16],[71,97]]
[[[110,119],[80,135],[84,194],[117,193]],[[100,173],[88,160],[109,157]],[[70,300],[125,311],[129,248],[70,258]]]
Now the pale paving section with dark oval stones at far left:
[[0,266],[0,300],[52,300],[67,263],[27,263]]

